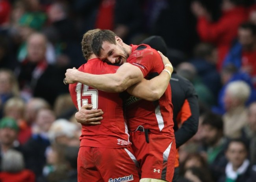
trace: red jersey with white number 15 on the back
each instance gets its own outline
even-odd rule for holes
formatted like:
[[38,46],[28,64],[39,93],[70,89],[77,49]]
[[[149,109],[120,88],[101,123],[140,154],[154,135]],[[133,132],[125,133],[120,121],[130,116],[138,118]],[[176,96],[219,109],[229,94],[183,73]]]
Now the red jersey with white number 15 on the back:
[[[119,67],[102,62],[98,58],[88,60],[79,71],[102,75],[115,73]],[[130,146],[128,128],[124,120],[122,99],[119,93],[106,93],[81,83],[70,84],[72,101],[79,110],[85,104],[104,111],[100,125],[83,125],[80,146],[121,148]]]

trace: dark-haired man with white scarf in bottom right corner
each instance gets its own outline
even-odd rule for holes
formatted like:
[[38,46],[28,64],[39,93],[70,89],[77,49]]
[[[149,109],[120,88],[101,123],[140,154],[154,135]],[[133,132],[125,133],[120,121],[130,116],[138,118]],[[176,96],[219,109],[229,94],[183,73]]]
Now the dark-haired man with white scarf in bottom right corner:
[[228,143],[226,150],[225,174],[218,182],[253,182],[255,181],[256,170],[253,170],[250,161],[247,159],[247,145],[243,140],[233,139]]

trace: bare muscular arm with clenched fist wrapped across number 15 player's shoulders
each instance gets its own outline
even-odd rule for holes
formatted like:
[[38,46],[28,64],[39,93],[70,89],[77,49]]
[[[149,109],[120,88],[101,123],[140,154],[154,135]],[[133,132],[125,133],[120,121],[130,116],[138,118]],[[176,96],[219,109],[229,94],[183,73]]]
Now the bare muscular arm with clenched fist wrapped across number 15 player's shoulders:
[[80,82],[105,92],[125,91],[128,87],[143,79],[141,70],[129,63],[120,66],[117,72],[113,74],[93,75],[83,73],[77,69],[67,69],[65,76],[68,84]]

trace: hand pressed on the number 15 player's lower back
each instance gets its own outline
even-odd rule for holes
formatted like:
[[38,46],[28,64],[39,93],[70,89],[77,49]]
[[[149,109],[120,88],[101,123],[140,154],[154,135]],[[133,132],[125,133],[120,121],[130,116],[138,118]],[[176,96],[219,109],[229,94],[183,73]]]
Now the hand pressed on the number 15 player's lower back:
[[100,120],[103,119],[104,114],[101,109],[92,109],[93,106],[86,104],[81,107],[80,111],[75,114],[76,121],[81,124],[100,124]]

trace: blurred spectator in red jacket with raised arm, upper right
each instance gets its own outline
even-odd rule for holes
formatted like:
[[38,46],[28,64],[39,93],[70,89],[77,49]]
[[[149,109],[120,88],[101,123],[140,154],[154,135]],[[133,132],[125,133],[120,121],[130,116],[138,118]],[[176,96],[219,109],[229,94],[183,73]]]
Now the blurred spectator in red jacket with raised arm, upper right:
[[222,16],[217,22],[211,21],[210,13],[198,1],[191,4],[192,12],[197,17],[200,39],[217,46],[218,70],[221,70],[224,57],[237,36],[238,26],[247,20],[247,12],[242,3],[240,0],[222,0]]

